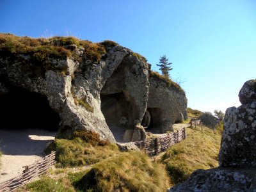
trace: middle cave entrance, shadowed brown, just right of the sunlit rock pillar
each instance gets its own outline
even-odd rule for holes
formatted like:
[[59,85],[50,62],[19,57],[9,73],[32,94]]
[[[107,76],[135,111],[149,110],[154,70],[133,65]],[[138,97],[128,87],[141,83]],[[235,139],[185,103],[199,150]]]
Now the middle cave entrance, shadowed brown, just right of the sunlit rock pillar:
[[[123,92],[100,94],[101,111],[117,142],[131,141],[136,111]],[[138,112],[137,112],[138,113]]]

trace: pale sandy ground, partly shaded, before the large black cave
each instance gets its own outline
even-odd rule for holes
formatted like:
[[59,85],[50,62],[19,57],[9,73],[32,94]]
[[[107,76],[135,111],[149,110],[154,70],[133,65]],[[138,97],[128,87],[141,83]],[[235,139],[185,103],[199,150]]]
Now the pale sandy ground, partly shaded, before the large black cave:
[[42,159],[56,133],[44,129],[0,129],[0,183],[22,173],[22,166]]

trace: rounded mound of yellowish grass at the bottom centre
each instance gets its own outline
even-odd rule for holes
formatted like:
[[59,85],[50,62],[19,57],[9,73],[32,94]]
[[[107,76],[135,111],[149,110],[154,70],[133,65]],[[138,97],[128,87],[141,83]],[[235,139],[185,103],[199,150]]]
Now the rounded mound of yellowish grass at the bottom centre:
[[166,191],[163,164],[152,163],[141,152],[125,152],[95,164],[79,181],[81,191]]

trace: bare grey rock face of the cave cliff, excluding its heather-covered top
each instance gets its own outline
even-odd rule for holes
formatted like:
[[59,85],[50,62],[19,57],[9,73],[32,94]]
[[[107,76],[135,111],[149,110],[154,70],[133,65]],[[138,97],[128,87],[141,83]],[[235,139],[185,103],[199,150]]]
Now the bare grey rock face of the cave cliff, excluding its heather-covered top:
[[166,86],[157,77],[150,84],[148,63],[131,50],[119,45],[106,47],[99,63],[91,63],[79,59],[83,47],[67,45],[66,49],[73,51],[73,57],[47,58],[43,63],[33,63],[30,55],[1,53],[0,92],[21,87],[46,95],[51,108],[60,115],[60,131],[86,129],[111,142],[115,142],[112,125],[115,130],[122,127],[118,134],[134,130],[127,136],[131,140],[145,140],[145,130],[139,128],[147,108],[160,109],[161,121],[156,126],[161,132],[172,130],[180,112],[186,113],[185,93]]

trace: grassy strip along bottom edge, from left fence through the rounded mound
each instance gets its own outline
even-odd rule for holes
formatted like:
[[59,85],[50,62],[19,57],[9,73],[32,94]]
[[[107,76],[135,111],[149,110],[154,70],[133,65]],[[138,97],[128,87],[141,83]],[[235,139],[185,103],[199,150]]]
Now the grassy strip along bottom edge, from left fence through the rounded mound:
[[95,164],[90,171],[42,177],[19,191],[166,191],[170,187],[164,165],[141,152],[120,153]]

